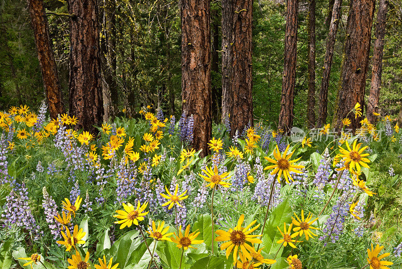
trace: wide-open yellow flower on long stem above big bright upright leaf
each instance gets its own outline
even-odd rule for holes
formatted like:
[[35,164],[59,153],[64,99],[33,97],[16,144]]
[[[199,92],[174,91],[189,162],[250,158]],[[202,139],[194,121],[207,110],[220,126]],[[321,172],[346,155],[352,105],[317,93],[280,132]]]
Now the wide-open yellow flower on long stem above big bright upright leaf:
[[283,152],[283,154],[281,156],[278,145],[276,145],[276,149],[273,150],[273,156],[275,157],[276,160],[273,160],[268,157],[264,157],[265,160],[274,164],[274,165],[265,167],[264,170],[274,168],[274,170],[271,172],[271,175],[275,175],[276,173],[278,173],[278,182],[280,182],[280,176],[282,175],[282,173],[286,180],[286,183],[289,183],[288,179],[293,181],[293,178],[290,176],[289,172],[294,172],[294,173],[300,174],[300,173],[302,173],[302,171],[299,171],[297,169],[304,168],[303,165],[293,165],[293,163],[297,162],[302,157],[290,161],[290,157],[292,157],[294,150],[289,155],[286,155],[288,150],[289,150],[289,145],[287,145],[285,151]]

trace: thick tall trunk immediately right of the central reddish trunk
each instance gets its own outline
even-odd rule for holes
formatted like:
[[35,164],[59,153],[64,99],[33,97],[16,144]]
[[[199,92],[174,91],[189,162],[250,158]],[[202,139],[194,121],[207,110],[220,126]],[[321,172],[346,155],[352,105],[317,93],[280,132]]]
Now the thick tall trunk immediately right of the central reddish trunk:
[[252,0],[222,1],[222,117],[230,135],[253,125]]

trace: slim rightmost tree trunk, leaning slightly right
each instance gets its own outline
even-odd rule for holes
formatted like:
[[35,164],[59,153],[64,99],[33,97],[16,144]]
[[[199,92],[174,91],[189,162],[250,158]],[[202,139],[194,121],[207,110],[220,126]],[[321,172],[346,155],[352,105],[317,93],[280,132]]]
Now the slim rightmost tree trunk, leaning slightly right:
[[386,10],[388,8],[387,0],[378,1],[378,14],[377,23],[375,25],[375,41],[374,41],[374,54],[373,66],[371,74],[370,95],[368,97],[366,117],[374,124],[376,116],[374,112],[378,113],[378,100],[381,89],[381,73],[382,73],[382,56],[384,55],[384,36],[386,25]]

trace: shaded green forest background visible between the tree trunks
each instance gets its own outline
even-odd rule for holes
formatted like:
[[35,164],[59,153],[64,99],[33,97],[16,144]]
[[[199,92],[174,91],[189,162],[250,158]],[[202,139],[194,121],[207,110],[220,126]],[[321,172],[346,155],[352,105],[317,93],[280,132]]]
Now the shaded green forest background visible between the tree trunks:
[[[68,104],[69,17],[65,1],[45,1],[52,48],[64,103]],[[330,3],[316,2],[316,95],[321,85],[328,35]],[[328,118],[332,122],[342,62],[349,3],[342,3],[328,91]],[[119,113],[134,116],[142,105],[153,104],[165,113],[181,114],[181,26],[176,1],[98,2],[100,54],[104,82],[113,88]],[[376,22],[378,5],[374,15]],[[297,62],[294,92],[295,126],[307,126],[308,2],[298,3]],[[221,3],[211,2],[212,92],[219,104],[222,92]],[[282,91],[285,4],[253,3],[253,106],[254,118],[276,126]],[[373,25],[374,25],[373,24]],[[374,45],[374,30],[371,33]],[[373,49],[370,50],[370,59]],[[366,79],[367,103],[371,61]],[[214,94],[218,93],[218,94]],[[389,1],[384,39],[381,114],[396,116],[402,100],[402,2]],[[27,104],[37,109],[45,100],[41,70],[27,2],[0,0],[0,109]],[[316,114],[320,100],[316,100]],[[213,105],[213,117],[221,119]],[[68,109],[68,105],[66,107]],[[366,109],[364,109],[366,110]],[[317,116],[316,116],[317,117]]]

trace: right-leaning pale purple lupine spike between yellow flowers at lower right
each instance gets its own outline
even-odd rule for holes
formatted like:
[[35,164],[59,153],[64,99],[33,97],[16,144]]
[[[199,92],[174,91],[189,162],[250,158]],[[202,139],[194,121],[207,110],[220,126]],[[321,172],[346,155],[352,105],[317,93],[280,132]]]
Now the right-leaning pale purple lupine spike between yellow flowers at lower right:
[[[323,235],[319,240],[331,240],[335,243],[339,239],[339,235],[343,234],[343,223],[349,213],[351,192],[344,192],[338,197],[336,204],[332,207],[332,213],[325,222],[325,228],[323,229]],[[324,243],[327,245],[327,242]]]

